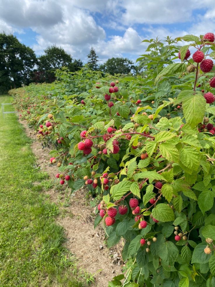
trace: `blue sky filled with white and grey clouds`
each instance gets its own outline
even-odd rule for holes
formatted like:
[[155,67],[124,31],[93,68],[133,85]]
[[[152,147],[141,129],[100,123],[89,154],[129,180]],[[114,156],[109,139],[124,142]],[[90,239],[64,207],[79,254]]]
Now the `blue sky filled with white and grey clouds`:
[[87,62],[93,47],[100,63],[136,61],[148,43],[215,32],[214,0],[0,0],[0,33],[15,35],[40,56],[56,44]]

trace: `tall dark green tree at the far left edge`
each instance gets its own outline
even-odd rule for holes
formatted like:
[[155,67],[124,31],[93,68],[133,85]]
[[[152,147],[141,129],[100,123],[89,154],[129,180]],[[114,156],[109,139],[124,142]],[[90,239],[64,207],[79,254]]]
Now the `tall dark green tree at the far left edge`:
[[37,64],[34,51],[13,35],[0,34],[0,92],[28,85]]

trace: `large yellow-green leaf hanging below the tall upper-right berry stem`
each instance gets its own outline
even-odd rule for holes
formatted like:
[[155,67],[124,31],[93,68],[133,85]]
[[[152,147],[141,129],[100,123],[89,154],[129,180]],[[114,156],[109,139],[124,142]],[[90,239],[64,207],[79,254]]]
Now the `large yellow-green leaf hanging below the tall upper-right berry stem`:
[[188,95],[182,102],[186,122],[195,127],[204,118],[206,101],[202,94]]

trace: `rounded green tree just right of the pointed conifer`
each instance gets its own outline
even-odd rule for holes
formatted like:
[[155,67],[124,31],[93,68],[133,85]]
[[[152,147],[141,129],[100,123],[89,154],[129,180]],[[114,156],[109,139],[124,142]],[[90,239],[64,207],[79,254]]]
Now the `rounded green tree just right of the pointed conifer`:
[[136,73],[136,66],[127,58],[117,57],[108,59],[108,61],[100,65],[100,70],[111,75],[128,74],[130,72]]

